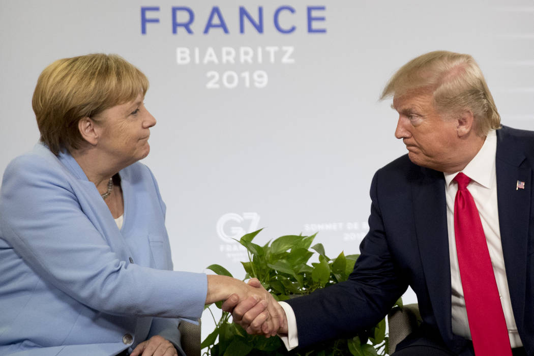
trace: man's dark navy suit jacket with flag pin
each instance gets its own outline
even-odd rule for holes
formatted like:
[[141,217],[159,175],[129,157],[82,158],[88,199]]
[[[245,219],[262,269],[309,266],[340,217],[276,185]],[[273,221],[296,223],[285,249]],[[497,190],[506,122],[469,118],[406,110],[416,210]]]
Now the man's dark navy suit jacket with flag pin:
[[[514,317],[534,355],[534,132],[497,130],[497,199],[502,251]],[[517,181],[524,189],[516,189]],[[451,270],[442,172],[407,155],[375,173],[370,231],[346,282],[288,300],[299,346],[354,336],[380,321],[408,286],[417,294],[423,328],[453,352],[470,355],[451,326]],[[488,320],[491,322],[491,320]]]

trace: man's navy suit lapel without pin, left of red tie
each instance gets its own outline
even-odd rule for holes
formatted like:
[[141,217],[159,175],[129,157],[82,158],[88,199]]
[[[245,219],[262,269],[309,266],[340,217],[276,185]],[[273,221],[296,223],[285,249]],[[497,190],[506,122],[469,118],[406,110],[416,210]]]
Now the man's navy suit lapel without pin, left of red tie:
[[412,184],[415,232],[432,309],[441,334],[452,339],[451,268],[443,173],[422,168]]

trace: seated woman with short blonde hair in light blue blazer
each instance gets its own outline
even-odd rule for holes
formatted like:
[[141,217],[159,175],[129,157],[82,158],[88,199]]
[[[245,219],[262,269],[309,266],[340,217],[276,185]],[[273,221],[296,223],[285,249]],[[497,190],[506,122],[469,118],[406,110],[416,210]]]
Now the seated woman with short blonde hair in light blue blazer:
[[166,207],[138,162],[156,124],[147,89],[115,55],[61,59],[39,77],[41,140],[0,189],[0,354],[183,354],[177,318],[232,293],[278,325],[262,288],[172,271]]

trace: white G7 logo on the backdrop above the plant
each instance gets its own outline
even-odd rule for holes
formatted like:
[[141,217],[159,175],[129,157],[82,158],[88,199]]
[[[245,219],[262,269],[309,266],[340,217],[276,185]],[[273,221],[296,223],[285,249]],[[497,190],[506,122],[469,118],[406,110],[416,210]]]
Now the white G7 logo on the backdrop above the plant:
[[[256,212],[244,212],[242,216],[229,212],[217,220],[217,235],[224,242],[235,243],[233,239],[239,239],[242,235],[256,231],[259,223],[260,215]],[[230,234],[227,234],[226,231],[229,231]]]

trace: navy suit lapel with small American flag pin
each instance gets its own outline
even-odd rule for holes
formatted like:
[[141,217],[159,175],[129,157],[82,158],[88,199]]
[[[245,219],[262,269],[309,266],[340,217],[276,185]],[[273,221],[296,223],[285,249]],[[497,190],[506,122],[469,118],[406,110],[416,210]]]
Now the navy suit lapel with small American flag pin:
[[[497,131],[497,201],[502,254],[516,324],[522,325],[527,280],[532,170],[525,155],[509,138],[506,128]],[[524,182],[524,188],[517,187]]]

